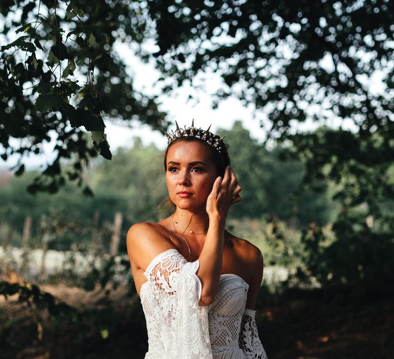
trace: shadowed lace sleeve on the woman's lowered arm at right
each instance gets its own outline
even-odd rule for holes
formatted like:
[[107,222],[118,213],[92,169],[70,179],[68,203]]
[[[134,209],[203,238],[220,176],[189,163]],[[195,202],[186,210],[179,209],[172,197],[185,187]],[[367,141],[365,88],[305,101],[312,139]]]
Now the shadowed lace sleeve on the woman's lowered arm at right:
[[256,322],[254,320],[255,313],[255,310],[245,309],[242,315],[239,338],[240,348],[244,351],[247,359],[267,359],[267,354],[261,344]]

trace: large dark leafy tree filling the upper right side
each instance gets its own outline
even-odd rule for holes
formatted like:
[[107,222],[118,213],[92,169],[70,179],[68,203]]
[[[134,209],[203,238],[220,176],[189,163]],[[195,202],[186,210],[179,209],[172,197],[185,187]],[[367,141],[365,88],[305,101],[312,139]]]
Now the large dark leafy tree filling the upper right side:
[[[306,241],[322,255],[312,274],[328,278],[326,286],[361,286],[363,293],[377,290],[374,276],[392,283],[394,267],[381,260],[394,255],[394,215],[384,210],[394,204],[394,3],[151,1],[149,11],[160,47],[153,55],[173,85],[201,71],[219,74],[214,101],[235,95],[266,115],[268,137],[290,142],[305,161],[305,183],[337,183],[336,242]],[[352,128],[294,134],[293,125],[306,119]]]

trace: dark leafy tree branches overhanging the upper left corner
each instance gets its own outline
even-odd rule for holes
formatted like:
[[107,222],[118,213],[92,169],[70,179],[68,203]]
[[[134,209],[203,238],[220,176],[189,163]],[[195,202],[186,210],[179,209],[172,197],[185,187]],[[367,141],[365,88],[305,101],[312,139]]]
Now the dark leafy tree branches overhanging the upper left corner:
[[[156,98],[133,88],[113,49],[117,39],[142,42],[136,22],[142,12],[139,3],[123,1],[10,0],[0,5],[2,158],[40,153],[44,141],[56,140],[57,157],[28,187],[30,192],[56,192],[66,179],[78,179],[81,185],[81,162],[97,153],[110,159],[104,118],[137,118],[166,128]],[[82,127],[90,131],[91,141]],[[21,145],[12,138],[21,139]],[[66,173],[63,158],[74,164]],[[20,161],[15,167],[17,175],[23,173]]]

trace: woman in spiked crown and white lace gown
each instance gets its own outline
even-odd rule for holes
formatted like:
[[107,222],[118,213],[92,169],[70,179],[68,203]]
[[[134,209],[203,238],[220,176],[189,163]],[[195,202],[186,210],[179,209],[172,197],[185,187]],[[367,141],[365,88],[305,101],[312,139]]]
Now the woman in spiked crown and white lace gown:
[[255,326],[261,251],[225,230],[241,186],[223,138],[191,127],[167,134],[174,213],[127,233],[150,358],[265,358]]

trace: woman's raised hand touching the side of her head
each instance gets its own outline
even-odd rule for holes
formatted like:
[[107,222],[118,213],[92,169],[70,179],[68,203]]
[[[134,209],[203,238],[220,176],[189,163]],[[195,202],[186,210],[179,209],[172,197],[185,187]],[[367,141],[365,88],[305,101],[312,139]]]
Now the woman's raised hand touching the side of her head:
[[241,202],[239,193],[242,187],[237,182],[234,172],[229,166],[226,167],[223,179],[216,178],[211,193],[207,198],[206,210],[209,218],[216,218],[221,222],[226,222],[230,207]]

